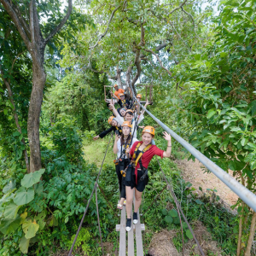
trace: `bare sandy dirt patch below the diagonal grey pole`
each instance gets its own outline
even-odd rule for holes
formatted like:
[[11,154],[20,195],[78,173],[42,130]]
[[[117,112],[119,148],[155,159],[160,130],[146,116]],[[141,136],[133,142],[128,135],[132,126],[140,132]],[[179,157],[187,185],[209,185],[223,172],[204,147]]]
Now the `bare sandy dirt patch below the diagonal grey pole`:
[[[216,193],[225,203],[232,206],[236,203],[238,196],[228,188],[212,172],[204,173],[201,163],[198,160],[176,160],[177,166],[182,170],[182,176],[185,181],[193,184],[193,187],[200,194],[199,187],[203,192],[207,189],[216,189]],[[231,175],[231,173],[230,173]]]

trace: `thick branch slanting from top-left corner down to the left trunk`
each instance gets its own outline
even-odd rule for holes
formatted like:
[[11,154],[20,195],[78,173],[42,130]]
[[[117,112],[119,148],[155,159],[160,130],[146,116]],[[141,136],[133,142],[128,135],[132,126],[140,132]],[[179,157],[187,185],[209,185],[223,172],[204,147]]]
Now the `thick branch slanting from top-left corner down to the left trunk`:
[[16,28],[20,32],[20,36],[23,39],[24,43],[26,44],[27,49],[31,50],[31,43],[29,38],[26,35],[25,28],[22,25],[22,19],[18,17],[18,15],[15,12],[15,9],[13,9],[11,3],[9,0],[0,0],[0,3],[3,4],[4,9],[8,12],[11,19],[14,21]]

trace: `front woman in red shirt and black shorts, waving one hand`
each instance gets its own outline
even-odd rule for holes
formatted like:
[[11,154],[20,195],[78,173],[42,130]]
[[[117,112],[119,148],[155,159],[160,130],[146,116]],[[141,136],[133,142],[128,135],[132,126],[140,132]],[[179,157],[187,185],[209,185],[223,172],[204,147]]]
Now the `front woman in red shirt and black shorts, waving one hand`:
[[137,224],[137,210],[142,202],[142,195],[145,186],[148,183],[148,164],[154,155],[159,155],[161,158],[170,157],[172,151],[172,137],[165,131],[164,138],[167,141],[166,151],[152,145],[154,138],[154,127],[146,126],[143,129],[142,141],[136,142],[131,148],[127,148],[129,157],[132,158],[125,176],[125,191],[126,191],[126,212],[127,222],[126,230],[131,230],[131,206],[133,200],[133,192],[135,189],[135,207],[133,212],[133,224]]

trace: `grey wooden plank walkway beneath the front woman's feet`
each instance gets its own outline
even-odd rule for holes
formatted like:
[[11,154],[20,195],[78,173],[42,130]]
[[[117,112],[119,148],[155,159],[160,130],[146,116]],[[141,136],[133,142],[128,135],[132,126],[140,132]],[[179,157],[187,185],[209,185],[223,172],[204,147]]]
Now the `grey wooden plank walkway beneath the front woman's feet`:
[[[134,206],[133,206],[134,207]],[[141,224],[140,214],[137,211],[137,224],[132,224],[132,210],[131,210],[131,224],[133,225],[133,229],[129,232],[125,230],[126,226],[126,212],[125,207],[121,211],[121,221],[120,224],[116,225],[116,231],[119,231],[119,256],[125,256],[126,251],[128,252],[128,256],[143,256],[143,236],[142,231],[145,230],[145,225]],[[126,242],[127,235],[127,242]],[[134,253],[134,235],[136,238],[136,254]],[[127,249],[126,249],[127,246]]]

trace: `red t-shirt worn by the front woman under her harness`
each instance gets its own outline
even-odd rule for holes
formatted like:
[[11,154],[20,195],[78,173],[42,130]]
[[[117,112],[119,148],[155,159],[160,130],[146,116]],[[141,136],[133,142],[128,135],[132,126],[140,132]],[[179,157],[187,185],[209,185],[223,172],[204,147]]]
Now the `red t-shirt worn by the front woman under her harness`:
[[[133,145],[131,147],[131,151],[130,151],[131,156],[134,154],[134,151],[137,147],[137,143],[142,144],[143,142],[133,143]],[[155,145],[152,145],[150,148],[148,148],[148,150],[141,157],[143,167],[148,168],[150,160],[152,160],[154,154],[159,155],[161,158],[163,158],[164,157],[164,152],[165,152],[164,150],[161,150],[160,148],[157,148]],[[138,168],[140,168],[139,162],[137,163],[137,166],[135,168],[136,183],[137,183],[137,169]]]

